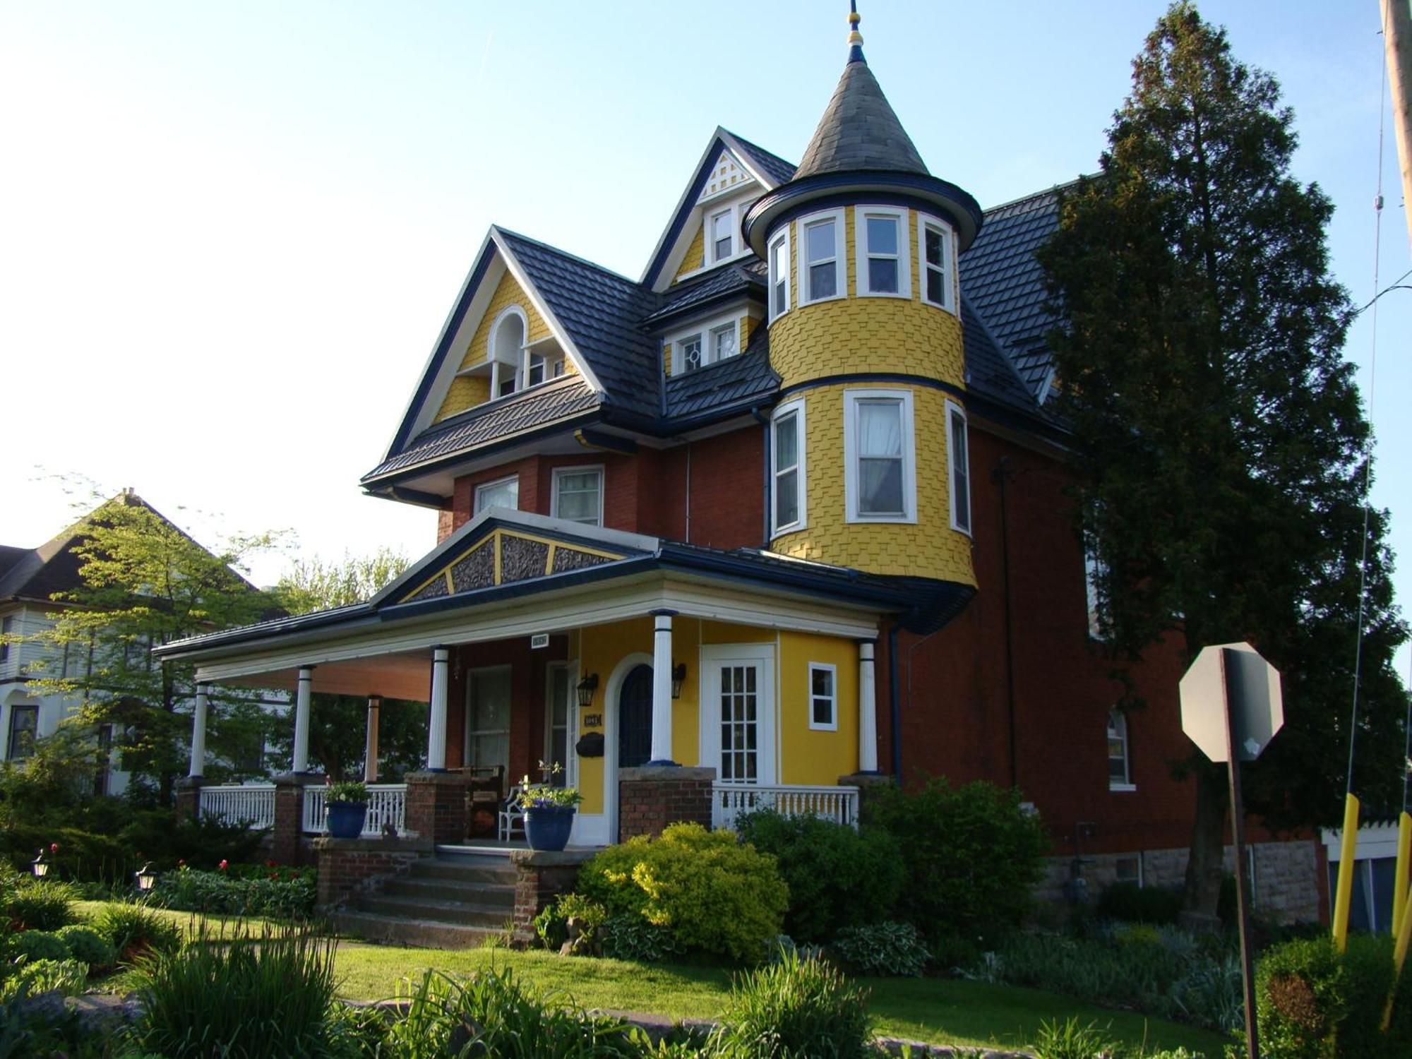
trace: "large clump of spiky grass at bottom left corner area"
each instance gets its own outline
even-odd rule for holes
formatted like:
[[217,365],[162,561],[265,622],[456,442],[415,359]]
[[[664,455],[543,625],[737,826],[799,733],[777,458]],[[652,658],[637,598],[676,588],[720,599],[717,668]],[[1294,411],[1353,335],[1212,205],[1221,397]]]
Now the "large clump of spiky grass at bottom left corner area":
[[141,964],[134,1043],[169,1059],[319,1055],[335,998],[336,942],[306,931],[198,938]]

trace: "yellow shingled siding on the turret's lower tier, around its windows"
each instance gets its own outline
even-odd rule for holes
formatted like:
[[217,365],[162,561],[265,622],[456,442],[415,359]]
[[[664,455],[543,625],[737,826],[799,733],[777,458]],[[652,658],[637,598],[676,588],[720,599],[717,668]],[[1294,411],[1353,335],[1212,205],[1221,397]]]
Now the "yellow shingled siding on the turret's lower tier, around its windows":
[[803,393],[808,525],[777,537],[770,549],[799,559],[856,566],[871,573],[940,578],[974,585],[970,538],[950,528],[946,394],[931,387],[895,383],[860,383],[851,388],[880,385],[912,391],[918,521],[847,521],[843,394],[850,387],[819,387]]

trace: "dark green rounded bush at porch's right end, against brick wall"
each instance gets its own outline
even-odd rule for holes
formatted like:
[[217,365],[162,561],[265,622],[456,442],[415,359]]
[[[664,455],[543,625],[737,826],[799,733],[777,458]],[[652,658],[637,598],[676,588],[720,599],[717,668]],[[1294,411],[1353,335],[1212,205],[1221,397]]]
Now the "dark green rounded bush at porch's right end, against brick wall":
[[943,778],[915,791],[884,788],[873,820],[907,850],[899,911],[928,938],[973,936],[991,923],[1018,923],[1029,909],[1049,840],[1039,818],[1021,809],[1018,791],[952,788]]

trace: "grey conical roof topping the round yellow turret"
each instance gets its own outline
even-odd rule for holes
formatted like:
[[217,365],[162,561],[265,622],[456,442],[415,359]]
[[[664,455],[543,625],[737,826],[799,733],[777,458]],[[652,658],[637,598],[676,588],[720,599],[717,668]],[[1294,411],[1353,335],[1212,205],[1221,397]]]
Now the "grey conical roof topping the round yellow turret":
[[843,68],[794,178],[870,169],[929,175],[868,64],[854,61]]

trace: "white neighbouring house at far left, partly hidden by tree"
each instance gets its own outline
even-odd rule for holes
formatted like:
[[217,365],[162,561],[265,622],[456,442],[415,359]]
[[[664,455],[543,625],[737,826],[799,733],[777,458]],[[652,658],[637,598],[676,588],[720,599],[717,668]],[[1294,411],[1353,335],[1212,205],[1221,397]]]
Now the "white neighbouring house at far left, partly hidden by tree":
[[[117,501],[150,508],[131,490],[124,490]],[[0,545],[0,761],[28,757],[37,738],[54,734],[64,717],[83,706],[82,693],[37,695],[31,683],[37,676],[82,679],[95,664],[93,648],[56,647],[35,638],[52,628],[49,616],[64,606],[54,602],[54,594],[79,585],[82,563],[73,548],[82,539],[79,521],[38,548]],[[288,696],[271,693],[265,705],[287,710]],[[192,709],[191,703],[182,707]],[[114,741],[121,743],[121,733],[114,733],[112,724],[100,724],[93,736],[109,751],[107,768],[93,777],[93,792],[121,794],[128,774],[119,768],[119,754],[113,751]]]

